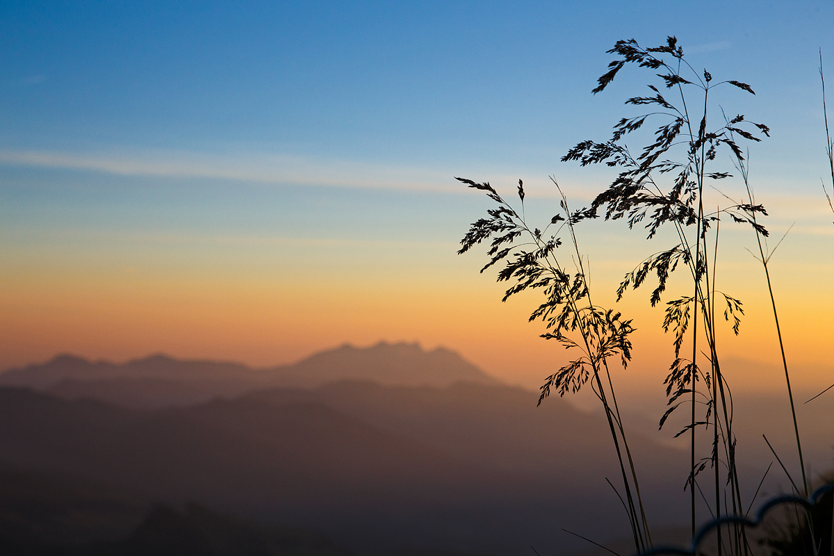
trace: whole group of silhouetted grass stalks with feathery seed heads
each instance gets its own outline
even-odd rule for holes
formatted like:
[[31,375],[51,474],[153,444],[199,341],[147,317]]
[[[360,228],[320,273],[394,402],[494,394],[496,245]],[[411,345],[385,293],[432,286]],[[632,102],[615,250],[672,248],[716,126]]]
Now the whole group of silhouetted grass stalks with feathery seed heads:
[[[591,303],[590,283],[575,227],[586,218],[597,218],[604,212],[605,220],[623,219],[629,228],[645,228],[646,238],[650,240],[657,237],[661,228],[671,229],[671,236],[675,238],[672,245],[651,254],[630,273],[625,274],[617,288],[617,299],[619,301],[629,288],[640,288],[653,275],[656,284],[651,291],[650,303],[654,307],[663,301],[671,274],[681,269],[688,271],[686,274],[691,280],[690,292],[665,302],[663,328],[666,333],[671,332],[673,335],[675,360],[665,380],[668,409],[661,417],[660,427],[677,408],[689,406],[689,423],[676,436],[688,433],[691,439],[691,465],[687,472],[686,488],[690,489],[692,533],[696,533],[698,491],[711,518],[732,518],[716,527],[717,553],[747,554],[751,545],[746,536],[746,528],[735,518],[749,513],[752,500],[746,503],[741,497],[736,467],[736,437],[733,433],[732,393],[721,369],[720,351],[716,342],[720,315],[723,313],[733,333],[738,334],[741,316],[744,314],[739,299],[716,288],[716,275],[720,271],[718,251],[722,218],[732,223],[749,225],[756,233],[759,260],[765,271],[776,336],[781,349],[802,474],[802,493],[806,498],[810,488],[768,267],[775,249],[769,251],[766,247],[769,233],[760,218],[767,213],[761,204],[756,203],[741,143],[759,142],[762,136],[769,137],[770,129],[764,124],[749,122],[741,114],[726,118],[723,109],[720,111],[721,121],[712,124],[715,120],[715,110],[712,107],[716,89],[735,87],[747,93],[755,93],[746,83],[735,80],[716,83],[706,69],[696,71],[686,61],[683,49],[677,45],[674,37],[668,38],[666,44],[654,48],[642,48],[633,39],[618,41],[608,52],[617,58],[598,79],[593,93],[603,92],[620,70],[628,64],[635,64],[638,68],[651,71],[660,79],[660,83],[658,86],[648,85],[651,89],[648,96],[627,98],[625,104],[649,107],[650,111],[621,118],[615,123],[612,137],[608,141],[598,143],[587,140],[577,143],[562,161],[579,162],[581,166],[604,163],[610,168],[618,168],[614,181],[595,197],[590,208],[571,213],[558,183],[555,178],[551,178],[559,188],[561,213],[552,218],[544,230],[539,230],[531,229],[525,222],[525,193],[521,181],[518,185],[521,213],[516,213],[489,183],[457,178],[470,188],[485,191],[499,205],[498,208],[490,209],[490,218],[472,224],[461,241],[463,247],[459,253],[465,253],[482,241],[490,241],[490,262],[481,272],[496,263],[505,263],[505,267],[498,273],[498,279],[513,281],[515,284],[506,291],[504,300],[525,289],[540,288],[545,293],[545,303],[531,314],[530,320],[544,320],[548,328],[548,332],[543,334],[544,338],[557,339],[565,348],[578,348],[582,352],[580,358],[570,361],[546,379],[541,388],[539,403],[550,393],[550,388],[557,388],[560,395],[564,395],[569,391],[577,391],[590,378],[595,394],[605,408],[619,458],[625,489],[625,498],[620,499],[631,521],[636,549],[645,551],[651,548],[651,533],[642,508],[639,483],[608,368],[608,360],[614,355],[620,355],[623,367],[627,365],[631,358],[631,341],[628,338],[633,328],[631,321],[623,320],[620,313],[598,308]],[[821,68],[820,76],[824,104],[825,81]],[[661,93],[664,88],[668,93]],[[660,120],[660,124],[653,138],[639,152],[632,153],[625,145],[624,138],[641,130],[647,122],[656,120]],[[826,189],[826,196],[834,211],[834,202],[831,201],[834,198],[834,142],[831,142],[828,134],[827,116],[826,140],[832,179],[832,194],[828,196]],[[731,178],[731,173],[716,162],[722,151],[729,152],[731,162],[741,173],[747,202],[735,202],[719,192],[720,203],[716,203],[715,209],[707,209],[705,192],[707,189],[715,189],[711,183]],[[721,206],[722,203],[725,206]],[[557,228],[548,235],[551,226]],[[566,272],[557,257],[557,248],[562,244],[560,233],[565,233],[570,239],[575,262],[573,273]],[[520,238],[525,238],[526,243],[518,243]],[[691,358],[681,356],[685,344],[691,347]],[[602,378],[606,380],[607,389],[604,388]],[[711,433],[711,453],[699,457],[696,453],[696,429],[701,427]],[[707,465],[713,471],[710,482],[714,484],[715,498],[712,502],[707,500],[699,484],[699,473]],[[726,469],[726,475],[723,476],[722,466]],[[626,473],[627,467],[631,470],[631,476]],[[633,494],[632,487],[635,491]],[[813,536],[814,521],[808,523]]]

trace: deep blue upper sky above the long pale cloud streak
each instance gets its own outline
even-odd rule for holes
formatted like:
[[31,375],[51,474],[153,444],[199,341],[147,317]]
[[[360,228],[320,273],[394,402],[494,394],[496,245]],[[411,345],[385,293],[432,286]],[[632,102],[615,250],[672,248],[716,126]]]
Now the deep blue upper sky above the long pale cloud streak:
[[693,63],[756,88],[751,116],[796,133],[819,112],[816,55],[834,22],[830,2],[2,9],[7,149],[545,172],[622,112],[614,91],[589,94],[616,39],[675,34]]

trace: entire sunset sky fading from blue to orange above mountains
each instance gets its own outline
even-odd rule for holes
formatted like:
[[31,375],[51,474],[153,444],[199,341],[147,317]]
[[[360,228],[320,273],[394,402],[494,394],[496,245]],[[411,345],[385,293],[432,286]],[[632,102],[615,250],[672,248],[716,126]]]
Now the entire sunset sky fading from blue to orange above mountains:
[[[614,174],[561,156],[607,139],[652,78],[626,68],[591,94],[605,51],[675,35],[694,67],[756,91],[727,86],[716,106],[771,128],[751,179],[771,247],[790,228],[771,259],[786,349],[801,387],[825,388],[834,218],[818,68],[821,52],[834,83],[832,24],[830,1],[4,2],[0,368],[57,353],[271,365],[417,341],[535,388],[566,354],[527,323],[535,295],[500,303],[484,253],[455,253],[490,204],[454,177],[508,197],[523,178],[545,223],[551,175],[589,203]],[[746,318],[721,349],[739,383],[778,388],[755,236],[726,229],[717,279]],[[614,290],[670,238],[601,220],[578,232],[598,299],[638,328],[623,380],[659,385],[673,357],[662,308]]]

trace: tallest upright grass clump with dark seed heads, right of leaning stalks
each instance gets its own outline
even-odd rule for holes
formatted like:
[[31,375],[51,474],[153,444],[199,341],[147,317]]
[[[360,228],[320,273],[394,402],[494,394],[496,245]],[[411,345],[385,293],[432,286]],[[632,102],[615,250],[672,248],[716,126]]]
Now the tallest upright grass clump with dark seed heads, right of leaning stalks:
[[[731,298],[726,293],[716,290],[717,263],[717,225],[721,214],[728,214],[734,221],[751,223],[756,230],[766,234],[761,224],[751,222],[749,213],[764,213],[764,208],[752,204],[736,204],[727,208],[718,208],[716,213],[705,213],[704,191],[707,179],[723,179],[730,176],[726,172],[708,172],[707,166],[712,165],[716,158],[717,149],[721,146],[730,148],[738,158],[743,159],[741,148],[736,143],[733,134],[746,140],[759,141],[753,133],[744,127],[751,125],[751,131],[758,131],[767,135],[768,128],[763,124],[748,123],[741,115],[725,123],[721,128],[712,131],[708,129],[709,106],[711,91],[721,85],[728,84],[753,93],[746,83],[724,81],[712,83],[712,76],[704,70],[697,72],[684,58],[682,48],[677,46],[676,39],[668,38],[665,45],[656,48],[641,48],[636,41],[619,41],[609,53],[620,56],[609,64],[609,71],[599,78],[599,85],[593,90],[600,93],[615,78],[615,75],[626,63],[636,63],[641,68],[648,68],[661,78],[662,86],[672,89],[679,97],[677,102],[665,98],[660,90],[649,85],[651,91],[648,97],[633,97],[626,100],[626,104],[635,106],[651,105],[654,112],[645,113],[632,118],[622,118],[615,124],[613,138],[605,143],[585,141],[562,158],[563,161],[575,160],[585,166],[594,163],[605,163],[610,167],[623,168],[610,187],[600,193],[591,204],[590,209],[582,212],[586,218],[594,218],[600,208],[605,208],[606,219],[624,218],[629,227],[642,224],[648,230],[648,238],[653,238],[658,229],[664,224],[671,224],[675,230],[677,244],[669,249],[655,253],[646,258],[631,273],[625,275],[617,290],[618,299],[629,287],[639,288],[649,273],[655,273],[657,286],[651,293],[651,305],[660,303],[661,296],[666,290],[669,275],[681,266],[688,268],[692,279],[692,295],[683,296],[666,302],[666,317],[664,329],[675,335],[675,361],[671,364],[669,376],[666,377],[666,394],[669,405],[661,418],[661,427],[666,418],[684,403],[685,397],[691,400],[691,420],[680,433],[691,435],[691,468],[687,478],[687,488],[691,489],[691,523],[694,532],[696,523],[695,489],[696,478],[706,464],[715,470],[715,505],[711,509],[713,517],[720,518],[724,504],[724,513],[741,513],[741,488],[736,470],[736,438],[732,432],[732,402],[729,386],[721,372],[718,349],[716,347],[716,305],[719,297],[724,298],[726,320],[732,320],[734,333],[738,333],[740,316],[743,314],[741,302]],[[684,77],[683,72],[686,72]],[[686,90],[685,90],[686,88]],[[699,97],[691,103],[687,91],[696,88]],[[632,156],[621,139],[629,133],[634,133],[648,118],[669,118],[669,121],[655,132],[654,143],[648,144],[637,156]],[[684,156],[679,161],[669,160],[667,157],[677,148],[684,148]],[[671,188],[664,188],[661,182],[664,175],[673,173]],[[716,227],[716,252],[712,263],[706,256],[708,233]],[[693,230],[694,228],[694,230]],[[692,348],[690,360],[681,358],[681,347],[689,338]],[[710,371],[701,372],[698,365],[701,349],[700,338],[706,341],[706,353]],[[700,378],[699,378],[700,377]],[[706,386],[699,392],[698,381],[701,379]],[[696,406],[699,395],[706,399],[706,416],[698,420]],[[713,413],[715,412],[715,413]],[[710,422],[712,417],[712,422]],[[712,453],[708,458],[696,459],[696,428],[699,426],[713,427]],[[723,463],[726,463],[726,485],[729,493],[723,490],[725,482],[721,480],[721,450],[723,448]],[[723,497],[722,497],[723,492]],[[709,507],[711,504],[707,504]],[[721,552],[721,535],[719,535],[719,552]],[[731,538],[731,548],[737,553],[747,550],[743,532],[735,528]]]

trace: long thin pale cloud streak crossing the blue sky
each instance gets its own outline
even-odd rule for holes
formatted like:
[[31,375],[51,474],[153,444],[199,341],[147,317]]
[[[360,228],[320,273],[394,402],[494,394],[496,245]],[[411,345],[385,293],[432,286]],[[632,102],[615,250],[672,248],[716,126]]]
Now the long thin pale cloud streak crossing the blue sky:
[[[519,178],[524,180],[529,198],[559,198],[548,174],[538,168],[513,170],[481,161],[461,163],[457,168],[425,168],[417,166],[362,163],[336,158],[314,158],[269,153],[198,153],[188,151],[137,150],[132,153],[68,153],[57,151],[0,149],[0,166],[59,168],[92,171],[121,176],[158,178],[197,178],[233,182],[414,191],[427,193],[466,194],[465,186],[455,176],[490,182],[511,202]],[[590,173],[580,177],[576,168],[560,167],[555,173],[570,201],[571,208],[590,203],[610,179],[606,173]],[[807,218],[810,213],[829,220],[828,207],[819,203],[816,189],[802,194],[776,193],[781,183],[763,180],[761,200],[766,207],[778,207],[774,218]],[[816,224],[819,226],[819,224]],[[821,231],[821,230],[820,230]]]

